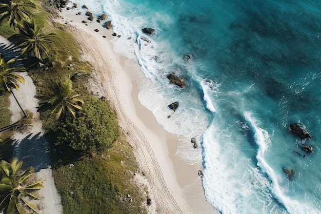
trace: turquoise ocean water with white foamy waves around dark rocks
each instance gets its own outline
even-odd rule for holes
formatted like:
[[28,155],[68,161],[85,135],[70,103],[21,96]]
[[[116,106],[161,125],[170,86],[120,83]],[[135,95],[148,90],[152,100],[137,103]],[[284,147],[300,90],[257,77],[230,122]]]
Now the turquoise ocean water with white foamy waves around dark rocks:
[[[148,80],[139,100],[187,139],[177,155],[203,165],[214,207],[224,214],[321,213],[321,2],[74,2],[109,15],[122,35],[115,51],[137,59]],[[145,27],[156,31],[147,36]],[[170,85],[172,72],[184,77],[185,89]],[[167,105],[175,101],[172,113]],[[293,123],[310,132],[314,153],[297,146]],[[295,175],[288,179],[283,168]]]

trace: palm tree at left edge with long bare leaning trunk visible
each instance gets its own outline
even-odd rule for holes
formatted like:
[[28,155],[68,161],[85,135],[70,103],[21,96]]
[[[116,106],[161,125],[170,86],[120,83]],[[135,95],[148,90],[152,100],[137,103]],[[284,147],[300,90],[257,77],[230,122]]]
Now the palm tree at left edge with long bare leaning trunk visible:
[[25,117],[27,117],[28,116],[27,113],[22,108],[22,106],[20,105],[20,103],[16,99],[13,91],[11,90],[11,87],[15,88],[17,90],[19,89],[19,85],[17,84],[17,82],[21,82],[23,84],[25,83],[24,77],[22,77],[21,75],[19,75],[17,73],[13,73],[13,72],[24,72],[24,71],[26,71],[26,68],[23,66],[11,67],[10,64],[14,63],[14,61],[15,61],[14,59],[11,59],[8,62],[6,62],[5,59],[2,57],[2,55],[0,54],[0,85],[3,86],[5,88],[5,90],[12,93],[18,106],[20,107],[20,109],[24,113]]

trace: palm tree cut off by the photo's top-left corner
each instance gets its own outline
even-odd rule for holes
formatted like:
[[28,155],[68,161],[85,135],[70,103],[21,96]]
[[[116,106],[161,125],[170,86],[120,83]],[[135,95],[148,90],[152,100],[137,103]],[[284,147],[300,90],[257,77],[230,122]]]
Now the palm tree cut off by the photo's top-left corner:
[[17,21],[23,18],[29,19],[29,14],[25,10],[28,7],[35,8],[35,5],[18,0],[0,0],[0,21],[8,17],[8,24],[15,29]]

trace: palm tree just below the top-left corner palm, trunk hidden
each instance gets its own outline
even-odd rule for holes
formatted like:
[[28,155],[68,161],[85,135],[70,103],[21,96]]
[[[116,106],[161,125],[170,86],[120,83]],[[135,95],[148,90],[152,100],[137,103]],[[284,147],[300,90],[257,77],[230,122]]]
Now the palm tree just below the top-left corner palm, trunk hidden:
[[14,34],[12,38],[13,43],[22,48],[23,55],[35,56],[43,62],[43,56],[48,57],[48,45],[53,43],[50,38],[55,34],[43,34],[42,28],[43,26],[37,26],[33,21],[23,21],[19,26],[19,33]]

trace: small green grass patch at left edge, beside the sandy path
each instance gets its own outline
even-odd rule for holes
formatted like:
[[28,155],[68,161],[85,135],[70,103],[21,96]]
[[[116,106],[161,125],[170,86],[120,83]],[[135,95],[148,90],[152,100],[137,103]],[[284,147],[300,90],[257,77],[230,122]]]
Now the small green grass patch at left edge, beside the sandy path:
[[10,100],[9,100],[10,93],[0,91],[0,128],[8,126],[11,121],[11,111],[9,110]]

